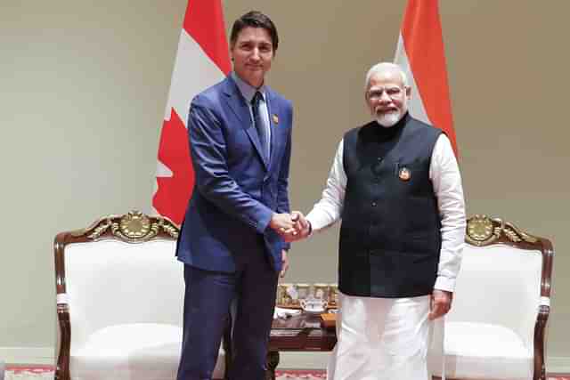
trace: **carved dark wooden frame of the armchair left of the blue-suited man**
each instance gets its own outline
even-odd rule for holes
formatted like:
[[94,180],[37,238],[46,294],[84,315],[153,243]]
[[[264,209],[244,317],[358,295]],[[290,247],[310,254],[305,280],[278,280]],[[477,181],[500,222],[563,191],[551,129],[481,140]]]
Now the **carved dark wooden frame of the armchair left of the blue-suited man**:
[[[69,304],[65,288],[65,247],[73,243],[94,242],[102,239],[122,240],[129,244],[140,244],[153,239],[177,239],[180,230],[169,219],[159,216],[149,216],[138,211],[124,215],[109,215],[94,222],[82,230],[59,233],[53,242],[55,258],[55,288],[57,299],[57,318],[60,327],[60,350],[55,368],[56,380],[69,380],[69,359],[71,344],[71,327],[69,323]],[[183,307],[181,304],[180,307]],[[225,375],[227,378],[231,351],[230,328],[228,324],[224,331]]]

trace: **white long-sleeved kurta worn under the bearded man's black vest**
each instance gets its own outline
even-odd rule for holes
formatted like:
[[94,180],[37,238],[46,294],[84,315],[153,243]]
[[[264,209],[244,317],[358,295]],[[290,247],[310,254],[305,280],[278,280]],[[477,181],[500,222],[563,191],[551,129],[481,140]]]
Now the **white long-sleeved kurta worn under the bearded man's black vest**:
[[[436,141],[429,178],[442,222],[435,288],[452,292],[465,244],[466,218],[459,166],[444,134]],[[340,219],[346,182],[340,141],[322,198],[306,216],[313,231],[324,230]],[[428,380],[429,296],[339,298],[338,343],[330,357],[329,380]]]

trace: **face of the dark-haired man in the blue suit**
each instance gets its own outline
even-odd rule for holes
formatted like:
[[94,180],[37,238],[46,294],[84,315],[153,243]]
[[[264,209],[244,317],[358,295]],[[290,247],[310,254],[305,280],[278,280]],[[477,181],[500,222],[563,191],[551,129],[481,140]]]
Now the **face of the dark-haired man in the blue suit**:
[[243,81],[254,87],[264,84],[265,73],[271,69],[273,44],[265,28],[247,27],[232,43],[233,70]]

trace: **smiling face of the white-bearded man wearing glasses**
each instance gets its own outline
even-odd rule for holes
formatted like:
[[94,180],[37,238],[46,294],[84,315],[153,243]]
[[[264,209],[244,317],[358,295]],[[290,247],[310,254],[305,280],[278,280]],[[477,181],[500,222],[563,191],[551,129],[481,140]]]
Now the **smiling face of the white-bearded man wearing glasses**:
[[410,87],[403,83],[396,69],[385,69],[373,74],[365,94],[371,114],[380,125],[395,125],[408,110]]

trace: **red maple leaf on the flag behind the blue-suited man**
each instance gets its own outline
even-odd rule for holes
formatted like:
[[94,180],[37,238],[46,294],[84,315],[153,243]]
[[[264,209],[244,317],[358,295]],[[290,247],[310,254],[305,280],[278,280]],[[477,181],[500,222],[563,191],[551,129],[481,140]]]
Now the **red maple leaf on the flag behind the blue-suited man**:
[[172,171],[172,177],[157,177],[159,189],[152,198],[152,206],[159,214],[180,225],[194,188],[194,169],[188,132],[175,109],[170,111],[170,120],[162,124],[159,161]]

